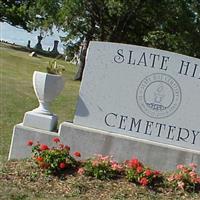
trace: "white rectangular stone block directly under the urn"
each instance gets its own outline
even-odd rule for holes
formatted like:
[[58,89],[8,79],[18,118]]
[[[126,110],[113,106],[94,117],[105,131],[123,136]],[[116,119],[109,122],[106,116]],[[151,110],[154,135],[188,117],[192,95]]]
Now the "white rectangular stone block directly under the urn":
[[26,112],[24,115],[24,126],[53,131],[56,130],[57,124],[58,118],[56,115],[44,115],[33,111]]

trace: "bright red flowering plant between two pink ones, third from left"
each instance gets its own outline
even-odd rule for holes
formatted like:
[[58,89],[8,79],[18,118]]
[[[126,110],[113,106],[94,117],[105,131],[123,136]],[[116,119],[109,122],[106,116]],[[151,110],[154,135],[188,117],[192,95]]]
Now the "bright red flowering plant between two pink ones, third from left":
[[142,186],[154,186],[162,182],[163,175],[157,171],[145,167],[137,158],[126,161],[125,173],[127,179]]

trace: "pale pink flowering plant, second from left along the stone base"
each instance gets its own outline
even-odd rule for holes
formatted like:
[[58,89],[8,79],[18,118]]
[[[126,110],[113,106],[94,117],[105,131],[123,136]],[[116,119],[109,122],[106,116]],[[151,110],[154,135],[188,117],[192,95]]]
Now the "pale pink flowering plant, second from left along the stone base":
[[94,158],[86,160],[83,164],[83,168],[80,168],[78,173],[105,180],[116,178],[122,171],[122,165],[113,161],[111,157],[97,155]]

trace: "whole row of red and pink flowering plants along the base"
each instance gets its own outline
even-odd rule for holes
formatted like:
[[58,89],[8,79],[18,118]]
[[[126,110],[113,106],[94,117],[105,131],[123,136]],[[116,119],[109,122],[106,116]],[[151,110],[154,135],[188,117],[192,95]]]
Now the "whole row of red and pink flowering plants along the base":
[[165,174],[145,166],[136,157],[122,163],[103,155],[81,160],[81,153],[71,154],[70,147],[61,143],[58,137],[52,142],[55,144],[52,148],[31,140],[27,142],[32,147],[32,159],[46,174],[59,175],[70,171],[101,180],[125,177],[130,182],[150,188],[164,186],[172,190],[200,191],[200,175],[194,163],[189,166],[179,164],[175,171]]

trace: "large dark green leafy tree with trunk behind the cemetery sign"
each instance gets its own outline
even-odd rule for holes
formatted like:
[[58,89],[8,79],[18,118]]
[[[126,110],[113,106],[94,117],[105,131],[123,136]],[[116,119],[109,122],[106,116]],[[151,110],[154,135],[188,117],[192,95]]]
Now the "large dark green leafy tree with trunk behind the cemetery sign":
[[[160,49],[200,57],[200,1],[198,0],[37,0],[28,6],[30,28],[66,32],[64,41],[75,49],[83,41],[101,40]],[[29,3],[27,3],[29,2]],[[27,7],[26,7],[27,8]],[[36,17],[36,16],[39,16]],[[76,79],[81,80],[85,51]]]

